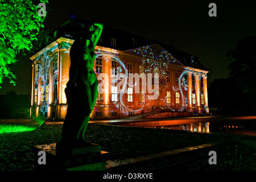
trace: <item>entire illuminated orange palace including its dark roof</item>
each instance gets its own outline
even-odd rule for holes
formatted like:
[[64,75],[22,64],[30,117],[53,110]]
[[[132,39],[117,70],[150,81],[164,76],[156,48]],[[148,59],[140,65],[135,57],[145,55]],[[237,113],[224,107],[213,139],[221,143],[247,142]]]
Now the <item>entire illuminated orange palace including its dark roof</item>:
[[[95,50],[94,71],[100,93],[91,114],[93,119],[125,117],[156,109],[184,115],[208,114],[208,71],[202,69],[197,57],[170,45],[108,27],[104,29]],[[72,34],[63,29],[58,31],[57,36],[61,36],[55,42],[30,57],[31,117],[63,120],[67,112],[64,89],[69,80],[69,52],[74,41]],[[151,73],[153,77],[158,73],[159,88],[156,89],[154,79],[146,80],[153,89],[153,93],[148,93],[141,77],[134,78],[133,83],[124,81],[119,90],[117,84],[123,81],[120,75],[128,78],[129,73]],[[137,92],[136,86],[139,86]]]

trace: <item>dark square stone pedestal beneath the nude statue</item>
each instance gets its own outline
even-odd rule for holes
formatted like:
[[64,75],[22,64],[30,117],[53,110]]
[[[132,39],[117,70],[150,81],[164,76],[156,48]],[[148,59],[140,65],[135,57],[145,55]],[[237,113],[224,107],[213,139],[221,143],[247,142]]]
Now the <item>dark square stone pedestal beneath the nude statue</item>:
[[[68,148],[60,143],[32,147],[35,154],[35,169],[52,171],[105,171],[108,152],[97,144]],[[43,151],[43,152],[40,152]],[[41,164],[45,154],[46,164]]]

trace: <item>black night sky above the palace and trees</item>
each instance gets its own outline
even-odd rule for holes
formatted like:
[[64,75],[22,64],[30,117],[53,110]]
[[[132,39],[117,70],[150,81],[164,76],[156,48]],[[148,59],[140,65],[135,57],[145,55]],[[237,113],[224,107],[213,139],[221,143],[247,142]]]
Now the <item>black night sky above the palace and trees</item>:
[[[217,5],[217,17],[208,16],[208,5]],[[97,20],[108,26],[160,42],[199,57],[209,70],[208,81],[228,77],[226,53],[236,47],[238,39],[256,36],[256,3],[247,1],[57,1],[46,5],[46,28],[55,30],[65,23],[71,12],[77,18]],[[6,79],[0,94],[14,90],[26,94],[31,88],[29,56],[11,68],[17,85]]]

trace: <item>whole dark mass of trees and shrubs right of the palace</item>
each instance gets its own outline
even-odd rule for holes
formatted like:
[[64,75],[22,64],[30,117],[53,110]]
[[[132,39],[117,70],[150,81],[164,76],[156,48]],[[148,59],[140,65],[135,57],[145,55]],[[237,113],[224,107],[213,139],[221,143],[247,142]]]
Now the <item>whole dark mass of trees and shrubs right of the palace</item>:
[[225,113],[256,113],[256,37],[238,40],[229,51],[229,77],[210,84],[209,104],[221,107]]

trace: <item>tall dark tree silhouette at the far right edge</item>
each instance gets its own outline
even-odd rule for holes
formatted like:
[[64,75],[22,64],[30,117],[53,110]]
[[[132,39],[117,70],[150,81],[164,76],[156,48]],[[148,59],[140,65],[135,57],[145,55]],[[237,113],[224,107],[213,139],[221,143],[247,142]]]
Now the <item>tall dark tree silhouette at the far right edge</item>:
[[241,93],[234,99],[241,99],[243,110],[256,111],[256,37],[247,37],[238,41],[236,49],[229,51],[230,79],[232,92]]

